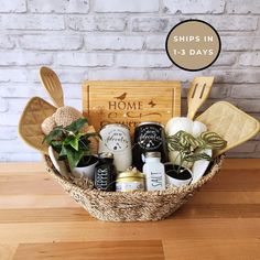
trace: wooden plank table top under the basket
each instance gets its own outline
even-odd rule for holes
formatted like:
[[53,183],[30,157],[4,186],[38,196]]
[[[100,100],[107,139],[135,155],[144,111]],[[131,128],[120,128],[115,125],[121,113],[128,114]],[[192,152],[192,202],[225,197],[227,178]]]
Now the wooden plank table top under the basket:
[[260,160],[226,160],[156,223],[96,220],[43,163],[1,163],[0,259],[260,259]]

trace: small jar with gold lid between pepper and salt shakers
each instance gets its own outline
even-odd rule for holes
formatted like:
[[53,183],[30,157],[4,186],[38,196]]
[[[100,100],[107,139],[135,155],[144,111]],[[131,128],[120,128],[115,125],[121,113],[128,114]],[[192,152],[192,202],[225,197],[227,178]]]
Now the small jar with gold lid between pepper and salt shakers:
[[136,167],[122,172],[117,177],[117,192],[144,191],[144,175]]

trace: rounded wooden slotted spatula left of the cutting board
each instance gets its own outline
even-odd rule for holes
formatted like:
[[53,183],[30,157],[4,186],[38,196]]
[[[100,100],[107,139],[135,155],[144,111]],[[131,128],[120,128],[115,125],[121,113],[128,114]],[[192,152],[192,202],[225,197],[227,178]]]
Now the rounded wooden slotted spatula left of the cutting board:
[[63,88],[58,76],[48,67],[40,68],[40,79],[56,107],[64,106]]

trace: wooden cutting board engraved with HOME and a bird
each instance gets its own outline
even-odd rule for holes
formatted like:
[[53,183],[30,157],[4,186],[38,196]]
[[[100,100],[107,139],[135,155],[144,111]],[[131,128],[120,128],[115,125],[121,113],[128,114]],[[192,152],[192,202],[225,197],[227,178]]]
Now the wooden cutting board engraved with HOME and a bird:
[[163,124],[181,113],[180,82],[85,82],[83,111],[96,130],[107,123]]

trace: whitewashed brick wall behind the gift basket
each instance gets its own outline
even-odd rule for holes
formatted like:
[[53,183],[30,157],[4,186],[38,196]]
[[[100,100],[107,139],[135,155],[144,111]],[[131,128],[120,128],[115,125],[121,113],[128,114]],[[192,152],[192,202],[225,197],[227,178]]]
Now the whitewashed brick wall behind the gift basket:
[[[2,0],[0,161],[40,160],[19,140],[17,124],[30,97],[47,98],[37,76],[42,65],[57,72],[66,104],[79,109],[84,79],[180,79],[185,115],[188,80],[215,75],[201,110],[225,99],[260,119],[259,13],[259,0]],[[221,36],[218,61],[203,72],[178,69],[164,52],[167,32],[186,19],[205,20]],[[259,140],[230,155],[260,158]]]

